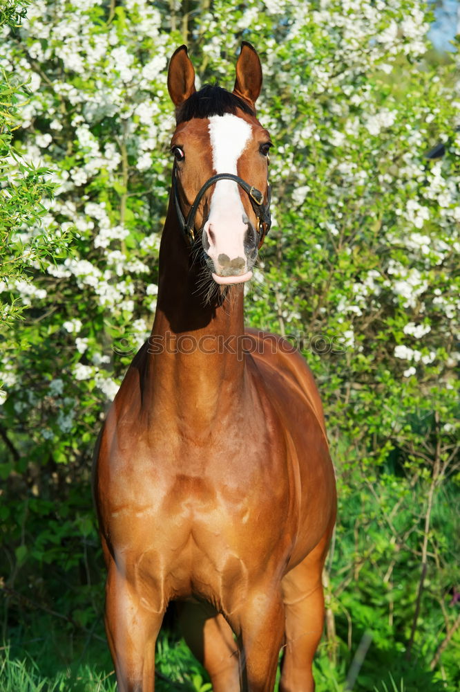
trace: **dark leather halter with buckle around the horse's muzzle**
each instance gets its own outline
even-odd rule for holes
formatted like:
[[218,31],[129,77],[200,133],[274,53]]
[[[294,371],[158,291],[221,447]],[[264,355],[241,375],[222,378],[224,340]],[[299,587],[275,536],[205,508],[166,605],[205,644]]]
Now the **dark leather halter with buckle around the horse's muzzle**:
[[217,183],[220,180],[232,180],[235,183],[238,183],[240,187],[245,190],[247,193],[249,199],[251,200],[252,208],[256,214],[257,217],[257,233],[258,233],[258,244],[262,242],[262,240],[265,238],[267,233],[269,232],[270,226],[271,226],[271,214],[270,214],[270,200],[271,200],[271,188],[270,184],[268,183],[267,186],[267,203],[264,203],[264,196],[260,190],[257,190],[254,188],[253,185],[249,185],[246,181],[244,181],[240,176],[238,175],[233,175],[233,173],[218,173],[217,175],[211,176],[204,185],[202,185],[202,188],[198,192],[197,196],[195,197],[195,201],[193,202],[191,209],[189,211],[189,214],[185,218],[184,215],[182,214],[182,209],[180,208],[180,202],[179,202],[179,196],[178,196],[178,181],[177,181],[177,171],[176,167],[174,164],[173,168],[173,195],[174,195],[174,204],[175,204],[175,211],[178,215],[178,220],[180,227],[182,228],[182,231],[184,232],[184,235],[186,237],[189,237],[191,242],[195,241],[195,216],[196,212],[198,210],[198,206],[200,206],[200,201],[203,198],[204,192],[207,191],[208,188],[211,187],[211,185],[214,185],[214,183]]

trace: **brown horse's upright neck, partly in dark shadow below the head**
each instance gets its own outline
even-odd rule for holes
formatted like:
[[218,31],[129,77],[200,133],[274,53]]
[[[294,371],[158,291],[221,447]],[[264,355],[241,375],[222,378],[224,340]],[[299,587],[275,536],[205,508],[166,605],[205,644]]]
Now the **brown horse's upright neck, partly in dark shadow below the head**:
[[157,310],[148,354],[148,398],[157,415],[203,434],[243,396],[243,287],[222,302],[204,304],[200,261],[169,208],[160,246]]

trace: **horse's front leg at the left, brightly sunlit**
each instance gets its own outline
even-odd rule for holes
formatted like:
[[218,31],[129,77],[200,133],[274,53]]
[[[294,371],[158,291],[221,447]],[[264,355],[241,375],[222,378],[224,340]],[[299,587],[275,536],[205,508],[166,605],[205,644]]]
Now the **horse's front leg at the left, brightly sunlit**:
[[115,563],[109,566],[105,621],[119,692],[155,689],[155,641],[163,614],[146,607]]

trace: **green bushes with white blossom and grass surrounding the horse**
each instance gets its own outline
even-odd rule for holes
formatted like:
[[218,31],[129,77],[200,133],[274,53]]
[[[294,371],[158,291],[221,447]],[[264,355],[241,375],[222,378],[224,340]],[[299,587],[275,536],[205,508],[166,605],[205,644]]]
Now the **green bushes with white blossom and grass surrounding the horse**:
[[[231,88],[242,39],[275,143],[246,318],[303,349],[338,476],[317,689],[458,689],[460,83],[425,3],[3,1],[0,19],[2,689],[113,689],[90,466],[155,310],[166,63],[186,42]],[[160,673],[205,692],[165,632]]]

